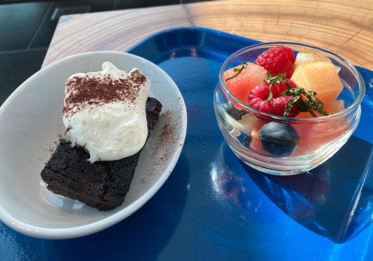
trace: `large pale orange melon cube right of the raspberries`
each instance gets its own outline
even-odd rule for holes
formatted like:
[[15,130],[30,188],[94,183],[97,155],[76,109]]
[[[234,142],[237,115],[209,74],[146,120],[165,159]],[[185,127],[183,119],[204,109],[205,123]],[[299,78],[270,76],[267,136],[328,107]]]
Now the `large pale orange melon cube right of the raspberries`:
[[339,96],[343,85],[331,62],[299,64],[291,77],[306,92],[314,90],[324,107],[330,106]]

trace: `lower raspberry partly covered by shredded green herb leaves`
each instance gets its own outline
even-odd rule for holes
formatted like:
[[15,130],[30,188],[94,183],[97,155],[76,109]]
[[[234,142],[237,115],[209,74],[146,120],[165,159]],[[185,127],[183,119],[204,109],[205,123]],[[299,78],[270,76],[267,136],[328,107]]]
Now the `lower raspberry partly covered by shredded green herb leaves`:
[[[290,84],[291,88],[298,88],[298,86],[289,79],[286,81]],[[248,97],[249,105],[257,110],[267,112],[270,114],[284,116],[285,106],[289,99],[294,98],[293,95],[286,95],[284,97],[281,96],[281,93],[284,90],[287,90],[288,87],[285,85],[284,82],[280,82],[279,85],[274,85],[271,87],[273,97],[270,101],[266,101],[269,97],[269,84],[262,82],[257,87],[255,87],[250,92],[250,96]],[[295,117],[299,114],[298,106],[293,104],[293,108],[290,111],[290,114],[287,117]]]

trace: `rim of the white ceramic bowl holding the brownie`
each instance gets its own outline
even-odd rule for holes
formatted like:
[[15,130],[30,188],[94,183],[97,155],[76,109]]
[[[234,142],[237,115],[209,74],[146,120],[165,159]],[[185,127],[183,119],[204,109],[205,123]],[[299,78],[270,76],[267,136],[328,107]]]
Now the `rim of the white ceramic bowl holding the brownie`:
[[[143,61],[146,61],[147,63],[150,63],[152,66],[157,67],[161,73],[164,73],[165,77],[168,78],[168,80],[172,83],[172,86],[175,88],[176,92],[179,94],[179,97],[181,98],[181,106],[182,106],[182,112],[183,112],[183,122],[182,122],[182,139],[181,139],[181,145],[178,146],[176,153],[172,158],[170,158],[169,162],[170,165],[167,169],[164,170],[162,175],[159,177],[159,179],[148,189],[147,192],[144,193],[141,197],[139,197],[136,201],[134,201],[132,204],[127,206],[126,208],[122,209],[119,212],[114,213],[113,215],[106,217],[100,221],[93,222],[87,225],[72,227],[72,228],[40,228],[36,226],[29,225],[25,222],[21,222],[17,220],[16,218],[8,215],[7,211],[5,211],[1,206],[0,201],[0,220],[4,222],[6,225],[8,225],[10,228],[14,229],[17,232],[20,232],[22,234],[26,234],[29,236],[32,236],[34,238],[40,238],[40,239],[71,239],[71,238],[77,238],[80,236],[89,235],[92,233],[99,232],[105,228],[108,228],[124,219],[132,215],[137,209],[142,207],[146,202],[148,202],[149,199],[154,196],[154,194],[159,190],[159,188],[165,183],[167,178],[171,175],[171,172],[173,171],[177,159],[181,154],[181,150],[184,144],[185,135],[186,135],[186,125],[187,125],[187,116],[186,116],[186,107],[184,100],[182,98],[181,92],[175,82],[171,79],[171,77],[160,67],[158,67],[156,64],[152,63],[151,61],[148,61],[142,57],[128,54],[128,53],[122,53],[122,52],[113,52],[113,51],[98,51],[98,52],[87,52],[87,53],[81,53],[76,54],[72,56],[65,57],[63,59],[60,59],[56,62],[53,62],[52,64],[45,66],[44,68],[41,68],[37,73],[35,73],[33,76],[31,76],[29,79],[27,79],[24,83],[22,83],[9,97],[8,99],[3,103],[3,105],[0,107],[0,115],[2,115],[5,112],[5,109],[15,100],[18,96],[18,93],[20,93],[22,90],[24,90],[29,82],[32,82],[34,79],[40,77],[41,75],[48,73],[48,70],[54,67],[59,66],[62,63],[65,63],[69,59],[72,58],[80,58],[95,54],[118,54],[125,56],[134,57],[136,59],[141,59]],[[176,159],[176,160],[175,160]]]

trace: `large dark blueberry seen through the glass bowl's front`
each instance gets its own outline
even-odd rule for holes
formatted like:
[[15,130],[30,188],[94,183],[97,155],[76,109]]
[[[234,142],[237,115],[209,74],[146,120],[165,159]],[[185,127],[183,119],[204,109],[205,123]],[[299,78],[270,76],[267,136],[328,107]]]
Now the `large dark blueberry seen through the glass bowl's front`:
[[299,145],[299,136],[289,124],[268,122],[259,131],[263,149],[277,157],[288,157],[294,154]]

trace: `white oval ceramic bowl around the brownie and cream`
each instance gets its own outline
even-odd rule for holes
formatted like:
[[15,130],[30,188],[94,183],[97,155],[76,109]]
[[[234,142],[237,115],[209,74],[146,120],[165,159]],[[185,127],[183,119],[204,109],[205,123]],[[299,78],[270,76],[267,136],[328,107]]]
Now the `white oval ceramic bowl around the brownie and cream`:
[[[98,211],[48,191],[40,172],[64,132],[64,82],[76,73],[100,71],[106,61],[121,70],[136,67],[148,76],[149,96],[163,108],[124,203]],[[172,142],[159,144],[165,123],[172,127]],[[75,238],[112,226],[144,205],[164,184],[178,160],[185,133],[186,109],[179,89],[162,69],[141,57],[92,52],[46,66],[0,108],[0,219],[18,232],[45,239]]]

